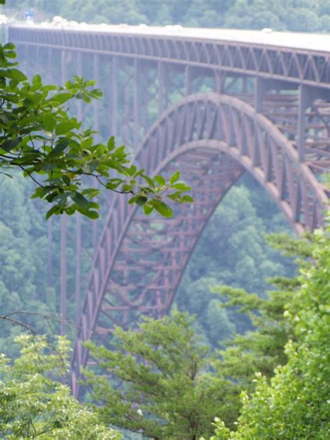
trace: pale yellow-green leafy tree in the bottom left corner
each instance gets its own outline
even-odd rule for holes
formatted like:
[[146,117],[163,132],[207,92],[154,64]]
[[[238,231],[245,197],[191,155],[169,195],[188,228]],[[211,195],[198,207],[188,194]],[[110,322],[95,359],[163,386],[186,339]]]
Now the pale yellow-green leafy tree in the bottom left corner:
[[20,336],[21,356],[0,356],[0,436],[6,439],[118,440],[97,414],[79,404],[65,379],[68,341]]

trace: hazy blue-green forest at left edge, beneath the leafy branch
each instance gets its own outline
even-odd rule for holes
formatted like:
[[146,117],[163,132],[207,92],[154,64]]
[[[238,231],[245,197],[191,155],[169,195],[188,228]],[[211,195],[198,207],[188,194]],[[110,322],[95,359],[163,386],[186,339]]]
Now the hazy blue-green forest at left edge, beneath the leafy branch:
[[[32,184],[22,175],[0,178],[0,304],[1,315],[13,311],[56,312],[55,292],[47,288],[47,226],[45,214],[29,201]],[[47,303],[47,304],[46,304]],[[45,331],[41,315],[10,315],[38,332]],[[56,322],[53,323],[56,328]],[[0,320],[0,352],[18,354],[13,343],[22,328]]]

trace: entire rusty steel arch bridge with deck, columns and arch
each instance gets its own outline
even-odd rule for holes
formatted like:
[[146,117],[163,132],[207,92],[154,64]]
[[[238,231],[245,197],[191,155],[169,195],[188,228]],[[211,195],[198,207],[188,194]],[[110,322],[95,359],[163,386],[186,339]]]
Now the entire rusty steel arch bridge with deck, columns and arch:
[[[278,45],[275,37],[238,31],[234,38],[225,31],[221,39],[203,29],[129,26],[10,27],[26,72],[44,68],[56,81],[92,75],[107,100],[92,111],[79,104],[79,117],[136,146],[136,162],[151,175],[180,169],[196,200],[176,207],[170,220],[144,217],[125,196],[111,201],[102,234],[95,233],[86,296],[77,306],[74,395],[88,362],[84,341],[106,340],[114,324],[133,324],[142,313],[168,311],[198,237],[244,171],[267,189],[297,233],[322,226],[329,197],[320,175],[330,166],[330,52],[316,36],[304,41],[308,49],[291,34],[291,46],[285,38]],[[65,221],[62,226],[63,257]],[[79,256],[81,225],[77,243]],[[77,258],[77,302],[79,264]]]

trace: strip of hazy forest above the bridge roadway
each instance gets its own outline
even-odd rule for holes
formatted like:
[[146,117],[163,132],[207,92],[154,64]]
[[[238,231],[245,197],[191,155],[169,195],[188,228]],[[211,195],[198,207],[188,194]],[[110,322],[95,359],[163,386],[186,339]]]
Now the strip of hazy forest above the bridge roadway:
[[10,6],[20,9],[21,17],[33,7],[39,19],[61,15],[95,23],[330,31],[330,0],[12,0]]

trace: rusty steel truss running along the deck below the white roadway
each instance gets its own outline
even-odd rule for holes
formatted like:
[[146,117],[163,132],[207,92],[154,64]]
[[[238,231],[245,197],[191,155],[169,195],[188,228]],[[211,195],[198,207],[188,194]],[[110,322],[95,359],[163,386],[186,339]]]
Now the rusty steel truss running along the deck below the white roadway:
[[19,45],[162,61],[330,88],[330,53],[176,36],[9,26]]

